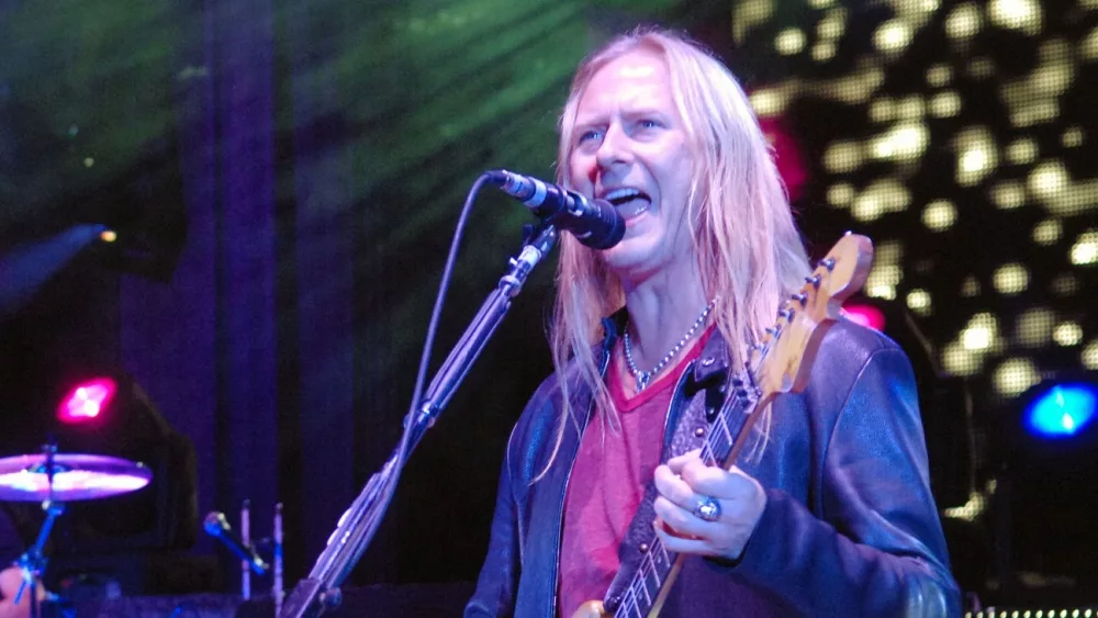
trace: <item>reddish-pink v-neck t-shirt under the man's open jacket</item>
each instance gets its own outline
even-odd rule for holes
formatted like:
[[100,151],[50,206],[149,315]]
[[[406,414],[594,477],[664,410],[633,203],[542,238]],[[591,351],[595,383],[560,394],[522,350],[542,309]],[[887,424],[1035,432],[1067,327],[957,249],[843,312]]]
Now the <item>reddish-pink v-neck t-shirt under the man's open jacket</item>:
[[[570,617],[583,603],[601,600],[617,573],[618,546],[645,498],[645,486],[660,464],[663,425],[671,395],[688,361],[702,353],[709,330],[640,394],[628,396],[620,355],[614,355],[606,375],[621,419],[615,432],[606,415],[595,414],[580,441],[564,501],[564,532],[560,547],[560,611]],[[632,383],[629,384],[632,392]]]

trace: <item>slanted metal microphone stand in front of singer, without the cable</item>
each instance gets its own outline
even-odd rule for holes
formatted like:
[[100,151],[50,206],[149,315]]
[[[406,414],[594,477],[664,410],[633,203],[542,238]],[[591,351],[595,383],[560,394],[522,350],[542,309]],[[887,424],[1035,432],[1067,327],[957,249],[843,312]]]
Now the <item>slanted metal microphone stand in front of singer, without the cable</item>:
[[[339,585],[350,574],[380,523],[389,504],[386,487],[395,482],[403,460],[419,442],[446,407],[457,386],[484,349],[503,317],[511,308],[511,300],[518,295],[534,267],[552,250],[558,233],[551,224],[542,222],[534,227],[518,257],[508,260],[507,272],[500,284],[481,305],[461,339],[446,358],[432,380],[427,392],[416,407],[414,417],[405,419],[405,440],[393,452],[381,471],[370,477],[362,492],[339,518],[335,531],[328,537],[327,547],[321,552],[309,577],[294,586],[282,605],[279,618],[315,618],[335,608],[343,599]],[[411,426],[407,424],[411,423]],[[406,448],[405,448],[406,445]],[[390,495],[391,497],[391,495]],[[379,502],[379,498],[384,498]]]

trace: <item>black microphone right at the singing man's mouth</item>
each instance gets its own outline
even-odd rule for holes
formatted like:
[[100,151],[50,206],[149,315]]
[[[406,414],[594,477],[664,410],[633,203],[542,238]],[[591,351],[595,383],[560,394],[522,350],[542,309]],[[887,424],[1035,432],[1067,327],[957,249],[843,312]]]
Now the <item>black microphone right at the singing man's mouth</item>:
[[550,184],[505,169],[488,172],[489,181],[520,200],[536,216],[572,233],[593,249],[609,249],[625,236],[625,220],[605,200],[589,200],[559,184]]

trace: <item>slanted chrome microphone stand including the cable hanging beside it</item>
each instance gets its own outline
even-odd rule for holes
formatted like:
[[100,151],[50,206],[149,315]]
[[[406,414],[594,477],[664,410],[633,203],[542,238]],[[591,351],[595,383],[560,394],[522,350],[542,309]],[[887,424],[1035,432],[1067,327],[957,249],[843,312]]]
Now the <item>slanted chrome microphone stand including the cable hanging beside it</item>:
[[488,182],[497,183],[498,179],[500,176],[493,172],[481,175],[473,182],[466,196],[461,214],[458,216],[453,240],[450,244],[446,266],[442,270],[439,293],[432,312],[430,323],[427,326],[424,353],[419,362],[412,404],[404,419],[404,434],[400,443],[381,471],[370,477],[351,506],[339,518],[336,530],[328,538],[327,546],[321,552],[309,576],[299,582],[285,599],[285,605],[279,613],[281,618],[315,617],[339,605],[341,599],[339,585],[358,563],[381,524],[384,512],[396,490],[396,481],[401,470],[412,450],[449,403],[455,390],[472,368],[473,362],[511,308],[512,299],[518,295],[530,272],[557,244],[557,226],[567,222],[569,215],[564,212],[568,211],[549,213],[537,225],[528,229],[529,233],[526,234],[526,241],[518,256],[508,260],[507,270],[500,279],[496,289],[481,305],[480,311],[473,317],[457,346],[442,362],[424,395],[423,383],[430,360],[430,350],[441,314],[442,301],[452,277],[457,249],[469,220],[469,213],[472,211],[473,201],[481,188]]

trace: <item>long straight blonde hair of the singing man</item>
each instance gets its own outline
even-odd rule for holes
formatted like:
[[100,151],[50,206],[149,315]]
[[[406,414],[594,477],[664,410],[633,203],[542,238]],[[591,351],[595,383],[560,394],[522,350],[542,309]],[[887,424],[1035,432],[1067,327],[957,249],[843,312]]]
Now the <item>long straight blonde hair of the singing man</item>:
[[[557,179],[571,186],[569,158],[580,99],[600,69],[629,52],[660,54],[671,76],[671,94],[693,161],[686,220],[691,225],[702,283],[717,297],[714,316],[728,342],[733,367],[741,367],[747,345],[758,340],[777,317],[782,301],[800,288],[810,271],[800,236],[770,145],[736,78],[688,38],[664,30],[637,30],[618,36],[580,65],[560,119]],[[563,235],[557,269],[557,301],[550,326],[553,364],[562,389],[564,424],[569,407],[565,380],[570,360],[592,390],[597,407],[616,424],[614,406],[594,355],[601,318],[625,303],[621,284],[601,254]]]

